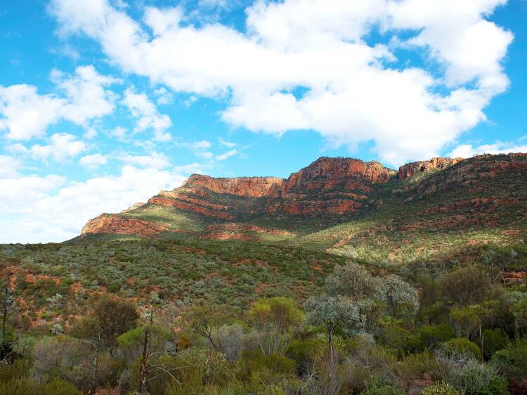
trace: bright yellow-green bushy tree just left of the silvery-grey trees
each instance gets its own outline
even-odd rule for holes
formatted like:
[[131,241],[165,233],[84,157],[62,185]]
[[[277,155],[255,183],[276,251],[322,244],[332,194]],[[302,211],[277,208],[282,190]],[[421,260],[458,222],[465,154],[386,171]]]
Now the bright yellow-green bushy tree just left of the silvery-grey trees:
[[304,314],[293,299],[273,297],[254,302],[247,317],[261,331],[259,345],[263,354],[283,355],[292,337],[290,335],[299,327]]

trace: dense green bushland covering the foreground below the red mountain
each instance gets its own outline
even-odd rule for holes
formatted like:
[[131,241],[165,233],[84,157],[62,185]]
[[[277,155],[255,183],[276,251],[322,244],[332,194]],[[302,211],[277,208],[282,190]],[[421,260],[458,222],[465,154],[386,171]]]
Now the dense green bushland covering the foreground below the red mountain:
[[489,259],[395,274],[278,246],[125,245],[3,247],[0,394],[527,393],[527,285]]

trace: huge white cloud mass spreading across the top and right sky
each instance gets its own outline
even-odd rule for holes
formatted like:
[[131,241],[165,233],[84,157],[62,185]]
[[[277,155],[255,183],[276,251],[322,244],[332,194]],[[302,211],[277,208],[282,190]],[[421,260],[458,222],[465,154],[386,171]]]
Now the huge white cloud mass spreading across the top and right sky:
[[[63,32],[96,39],[126,72],[193,96],[230,93],[223,120],[234,127],[314,129],[334,145],[372,141],[382,160],[399,164],[438,155],[507,89],[501,62],[512,34],[485,19],[504,3],[256,1],[246,34],[180,24],[178,8],[147,8],[148,28],[104,0],[53,0],[51,12]],[[370,46],[363,37],[372,26],[410,39]],[[398,46],[418,56],[424,48],[427,68],[393,63]],[[297,87],[306,93],[294,96]]]

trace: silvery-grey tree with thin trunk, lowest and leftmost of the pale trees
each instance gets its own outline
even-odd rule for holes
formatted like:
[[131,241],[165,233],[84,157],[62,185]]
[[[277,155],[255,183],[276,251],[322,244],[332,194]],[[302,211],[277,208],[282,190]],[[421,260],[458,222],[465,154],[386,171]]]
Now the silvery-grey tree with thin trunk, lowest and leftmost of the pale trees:
[[346,296],[322,295],[309,298],[306,309],[306,323],[325,329],[330,365],[334,362],[333,335],[337,327],[349,335],[363,332],[366,325],[365,309],[371,306],[366,301],[358,301]]

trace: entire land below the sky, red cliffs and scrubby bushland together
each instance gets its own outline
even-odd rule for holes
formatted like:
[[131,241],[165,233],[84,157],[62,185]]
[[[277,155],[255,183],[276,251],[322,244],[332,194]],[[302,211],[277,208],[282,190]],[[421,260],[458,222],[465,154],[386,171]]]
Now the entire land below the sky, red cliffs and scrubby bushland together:
[[525,394],[526,193],[527,154],[324,157],[0,245],[0,394]]

